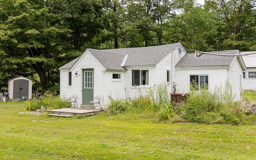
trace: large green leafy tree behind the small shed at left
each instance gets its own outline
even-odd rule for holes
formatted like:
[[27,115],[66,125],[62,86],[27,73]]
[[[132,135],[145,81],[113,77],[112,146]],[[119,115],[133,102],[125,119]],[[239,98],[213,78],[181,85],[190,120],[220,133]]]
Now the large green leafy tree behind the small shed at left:
[[[3,62],[10,70],[33,68],[43,90],[58,83],[58,66],[70,30],[62,28],[45,1],[0,1]],[[12,71],[11,71],[12,74]]]

